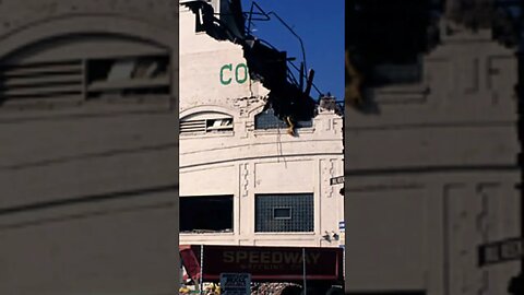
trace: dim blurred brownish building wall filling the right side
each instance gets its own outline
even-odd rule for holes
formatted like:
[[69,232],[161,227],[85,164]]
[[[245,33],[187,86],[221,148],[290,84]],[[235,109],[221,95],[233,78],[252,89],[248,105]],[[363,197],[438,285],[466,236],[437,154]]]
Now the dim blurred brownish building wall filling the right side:
[[[346,109],[346,293],[508,294],[521,261],[479,247],[521,237],[514,48],[441,21],[440,44]],[[407,73],[407,74],[406,74]]]

